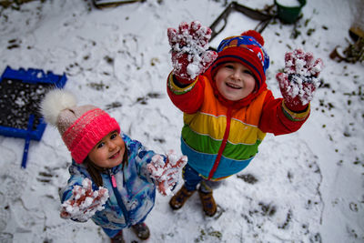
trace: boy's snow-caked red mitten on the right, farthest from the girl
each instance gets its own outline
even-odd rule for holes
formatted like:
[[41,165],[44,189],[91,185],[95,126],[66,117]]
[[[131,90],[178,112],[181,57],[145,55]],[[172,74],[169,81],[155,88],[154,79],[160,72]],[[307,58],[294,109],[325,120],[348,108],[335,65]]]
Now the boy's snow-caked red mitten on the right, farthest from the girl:
[[284,73],[278,73],[276,77],[288,109],[299,112],[307,108],[319,86],[322,68],[322,60],[315,60],[312,53],[301,49],[286,53]]

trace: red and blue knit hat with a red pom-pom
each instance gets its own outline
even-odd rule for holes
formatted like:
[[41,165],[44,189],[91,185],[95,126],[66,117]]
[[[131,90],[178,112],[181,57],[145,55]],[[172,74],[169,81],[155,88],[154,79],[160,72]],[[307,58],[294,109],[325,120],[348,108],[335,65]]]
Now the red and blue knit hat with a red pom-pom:
[[239,62],[253,73],[257,80],[256,90],[266,81],[269,56],[264,49],[264,39],[255,30],[241,35],[230,36],[217,47],[217,59],[211,66],[211,76],[215,76],[219,66],[228,62]]

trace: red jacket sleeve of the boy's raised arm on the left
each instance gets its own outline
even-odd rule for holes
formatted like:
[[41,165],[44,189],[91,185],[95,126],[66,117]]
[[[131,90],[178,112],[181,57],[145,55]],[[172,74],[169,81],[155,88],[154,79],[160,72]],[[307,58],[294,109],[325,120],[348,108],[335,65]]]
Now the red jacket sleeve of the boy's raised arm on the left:
[[167,94],[173,104],[187,114],[197,112],[204,98],[205,83],[203,76],[187,86],[178,83],[177,77],[172,73],[167,78]]

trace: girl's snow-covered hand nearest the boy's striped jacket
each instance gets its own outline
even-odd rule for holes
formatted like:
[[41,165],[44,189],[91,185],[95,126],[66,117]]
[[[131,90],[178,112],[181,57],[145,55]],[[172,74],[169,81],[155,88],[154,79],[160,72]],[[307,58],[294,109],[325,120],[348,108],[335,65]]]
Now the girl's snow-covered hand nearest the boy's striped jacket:
[[166,163],[160,155],[152,157],[147,165],[150,177],[157,181],[157,189],[163,196],[172,194],[172,189],[177,185],[181,168],[187,164],[187,157],[177,158],[176,153],[171,150],[167,154]]

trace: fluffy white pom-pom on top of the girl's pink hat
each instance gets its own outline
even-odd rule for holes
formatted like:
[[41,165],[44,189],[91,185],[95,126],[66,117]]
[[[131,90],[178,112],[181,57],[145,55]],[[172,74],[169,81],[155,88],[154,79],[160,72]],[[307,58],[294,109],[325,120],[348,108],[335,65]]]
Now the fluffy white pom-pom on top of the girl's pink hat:
[[63,89],[53,89],[45,94],[40,109],[45,121],[56,126],[59,113],[73,106],[76,106],[76,97],[72,93]]

